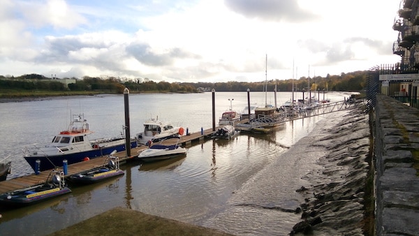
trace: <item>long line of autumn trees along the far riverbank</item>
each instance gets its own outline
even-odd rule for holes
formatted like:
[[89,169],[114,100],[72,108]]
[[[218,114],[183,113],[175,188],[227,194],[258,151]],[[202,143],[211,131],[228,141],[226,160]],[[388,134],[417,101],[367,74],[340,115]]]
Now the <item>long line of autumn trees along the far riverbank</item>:
[[29,74],[14,78],[0,75],[0,89],[9,90],[42,90],[42,91],[103,91],[104,93],[122,94],[125,88],[130,93],[142,92],[172,92],[193,93],[202,89],[215,91],[361,91],[367,84],[368,71],[341,73],[341,75],[316,76],[314,78],[301,77],[295,80],[269,80],[260,82],[154,82],[147,78],[123,80],[121,78],[98,78],[84,76],[82,80],[65,84],[60,80],[52,80],[43,75]]

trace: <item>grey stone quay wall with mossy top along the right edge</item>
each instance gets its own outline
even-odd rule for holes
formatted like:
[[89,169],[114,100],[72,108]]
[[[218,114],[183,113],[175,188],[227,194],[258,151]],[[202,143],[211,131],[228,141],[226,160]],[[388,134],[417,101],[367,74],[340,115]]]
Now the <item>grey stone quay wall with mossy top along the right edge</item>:
[[376,101],[376,235],[419,235],[419,110],[388,96]]

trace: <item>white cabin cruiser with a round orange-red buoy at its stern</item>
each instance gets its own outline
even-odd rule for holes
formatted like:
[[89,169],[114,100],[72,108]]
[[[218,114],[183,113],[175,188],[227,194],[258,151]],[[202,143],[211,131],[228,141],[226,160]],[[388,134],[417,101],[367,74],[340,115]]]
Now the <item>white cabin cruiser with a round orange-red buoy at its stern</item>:
[[144,132],[135,135],[142,145],[149,145],[150,142],[159,142],[168,138],[176,138],[184,134],[184,128],[175,127],[169,121],[148,119],[144,122]]

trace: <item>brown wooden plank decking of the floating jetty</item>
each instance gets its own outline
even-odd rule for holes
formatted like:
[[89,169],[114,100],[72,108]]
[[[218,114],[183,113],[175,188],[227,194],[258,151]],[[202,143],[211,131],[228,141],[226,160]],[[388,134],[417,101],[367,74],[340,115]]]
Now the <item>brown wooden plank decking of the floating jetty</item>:
[[[218,127],[217,127],[218,128]],[[192,142],[199,142],[201,140],[205,140],[206,137],[209,137],[212,134],[212,128],[207,128],[203,130],[203,134],[201,132],[190,133],[189,135],[182,135],[179,144],[182,146],[191,145]],[[173,142],[173,141],[167,141]],[[132,160],[136,156],[138,156],[138,152],[147,149],[147,146],[139,146],[135,148],[131,148],[131,156],[126,156],[126,151],[118,152],[115,156],[119,157],[120,163],[123,165],[126,161]],[[89,161],[82,161],[80,163],[74,163],[72,165],[68,165],[67,168],[67,175],[74,175],[86,170],[91,170],[93,168],[97,168],[105,163],[105,159],[107,156],[92,158]],[[62,168],[61,168],[62,170]],[[30,186],[43,184],[47,180],[48,175],[50,175],[51,170],[45,170],[39,175],[25,175],[22,177],[17,177],[14,179],[8,179],[5,181],[0,182],[0,194],[7,193],[10,191],[15,191],[18,189],[24,189]]]

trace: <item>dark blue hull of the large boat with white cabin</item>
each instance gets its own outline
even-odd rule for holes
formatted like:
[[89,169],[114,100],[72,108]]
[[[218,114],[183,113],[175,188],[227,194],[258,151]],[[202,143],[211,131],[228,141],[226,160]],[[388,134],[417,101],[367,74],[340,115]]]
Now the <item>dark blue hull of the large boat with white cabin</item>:
[[[137,142],[133,141],[131,142],[131,148],[137,147]],[[63,161],[67,160],[68,165],[78,163],[81,161],[84,161],[84,158],[95,158],[98,156],[104,156],[108,155],[114,150],[117,150],[117,152],[125,151],[125,144],[123,145],[115,145],[110,147],[103,147],[99,149],[90,149],[88,151],[84,152],[75,152],[71,154],[59,154],[54,156],[24,156],[24,159],[31,165],[31,168],[37,172],[36,170],[36,160],[41,161],[38,165],[39,171],[44,170],[52,170],[53,168],[57,166],[62,166]]]

